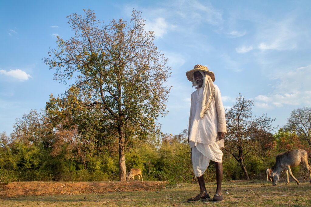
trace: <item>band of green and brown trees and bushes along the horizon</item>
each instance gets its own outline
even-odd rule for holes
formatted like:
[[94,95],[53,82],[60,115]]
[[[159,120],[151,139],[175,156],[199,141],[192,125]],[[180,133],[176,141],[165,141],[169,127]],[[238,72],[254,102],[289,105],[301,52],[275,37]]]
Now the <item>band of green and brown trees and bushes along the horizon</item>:
[[[248,130],[251,133],[243,133],[244,137],[234,139],[233,121],[229,120],[229,115],[241,103],[249,104],[251,112],[252,104],[247,101],[240,95],[234,106],[226,111],[227,124],[231,124],[231,129],[228,127],[223,149],[225,180],[265,179],[265,169],[273,168],[275,156],[288,150],[304,149],[310,157],[310,142],[304,136],[306,133],[299,131],[299,122],[295,125],[295,119],[299,119],[300,115],[300,122],[308,128],[308,122],[303,118],[308,118],[307,115],[311,117],[311,108],[293,110],[288,123],[274,134],[260,125],[247,125],[253,127]],[[247,120],[253,123],[258,119],[248,116],[243,123],[247,123]],[[0,182],[119,180],[118,139],[114,137],[117,135],[110,134],[95,141],[94,137],[80,136],[78,127],[64,126],[53,124],[46,110],[30,110],[27,115],[16,119],[12,134],[0,134]],[[87,130],[88,126],[84,128]],[[310,132],[310,128],[308,130]],[[196,182],[187,140],[186,129],[176,135],[149,133],[143,137],[132,137],[125,146],[127,172],[131,168],[140,168],[147,181]],[[243,148],[244,168],[239,160],[239,151],[234,151],[234,147],[239,148],[237,143]],[[292,171],[295,177],[308,178],[304,166]],[[205,179],[207,182],[216,179],[213,162],[207,169]]]

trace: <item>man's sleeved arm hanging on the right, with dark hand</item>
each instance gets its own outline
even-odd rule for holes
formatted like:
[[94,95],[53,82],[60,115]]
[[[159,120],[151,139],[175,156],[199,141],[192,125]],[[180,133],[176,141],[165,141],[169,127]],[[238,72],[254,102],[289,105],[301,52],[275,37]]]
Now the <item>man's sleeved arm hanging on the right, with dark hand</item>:
[[215,92],[215,105],[218,118],[218,140],[222,140],[227,133],[225,108],[221,100],[221,94],[218,87],[216,87]]

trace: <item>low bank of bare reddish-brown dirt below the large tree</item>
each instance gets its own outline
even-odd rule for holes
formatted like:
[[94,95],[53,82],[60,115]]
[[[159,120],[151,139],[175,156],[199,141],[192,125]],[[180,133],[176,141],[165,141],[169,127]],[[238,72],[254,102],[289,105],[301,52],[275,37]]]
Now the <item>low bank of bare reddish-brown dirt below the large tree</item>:
[[0,198],[39,195],[77,195],[120,191],[151,191],[165,187],[160,181],[129,182],[10,182],[0,184]]

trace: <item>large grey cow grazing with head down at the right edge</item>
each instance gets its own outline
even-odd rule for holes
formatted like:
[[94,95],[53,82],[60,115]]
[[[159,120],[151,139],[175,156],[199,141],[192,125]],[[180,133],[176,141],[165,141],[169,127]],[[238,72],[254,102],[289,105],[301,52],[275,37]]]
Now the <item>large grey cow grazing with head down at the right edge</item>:
[[304,150],[290,150],[276,156],[276,163],[273,172],[271,173],[272,185],[275,186],[277,184],[283,170],[285,170],[287,175],[286,184],[290,182],[288,179],[288,174],[290,174],[299,185],[299,181],[293,176],[290,167],[296,167],[300,163],[303,163],[307,167],[310,175],[309,184],[311,184],[311,167],[308,164],[308,153]]

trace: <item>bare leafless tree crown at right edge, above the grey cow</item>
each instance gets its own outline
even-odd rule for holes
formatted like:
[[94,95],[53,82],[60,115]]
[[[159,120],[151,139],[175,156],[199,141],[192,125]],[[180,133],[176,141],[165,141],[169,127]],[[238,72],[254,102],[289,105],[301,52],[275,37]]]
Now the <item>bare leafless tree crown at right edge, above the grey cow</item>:
[[311,108],[304,107],[292,110],[287,119],[286,128],[290,129],[311,147]]

